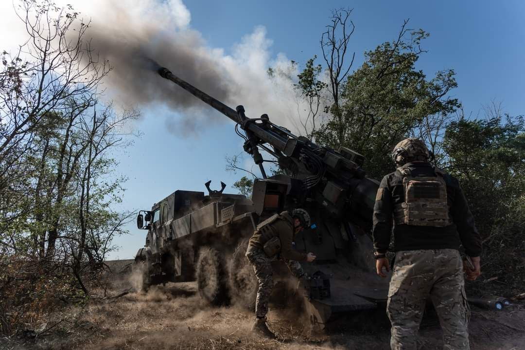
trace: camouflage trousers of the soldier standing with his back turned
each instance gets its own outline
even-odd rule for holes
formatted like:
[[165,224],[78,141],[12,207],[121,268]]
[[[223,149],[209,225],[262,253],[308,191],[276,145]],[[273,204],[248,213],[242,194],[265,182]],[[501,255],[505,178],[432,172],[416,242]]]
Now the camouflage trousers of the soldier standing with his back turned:
[[463,261],[455,249],[396,253],[388,290],[392,349],[416,349],[417,332],[430,297],[443,329],[444,349],[469,349],[470,310]]

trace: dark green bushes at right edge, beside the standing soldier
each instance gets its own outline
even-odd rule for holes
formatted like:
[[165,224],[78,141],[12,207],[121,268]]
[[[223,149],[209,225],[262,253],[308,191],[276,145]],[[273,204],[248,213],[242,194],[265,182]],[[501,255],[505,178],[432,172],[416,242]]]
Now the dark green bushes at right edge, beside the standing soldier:
[[522,117],[452,122],[446,166],[463,187],[484,242],[487,277],[525,281],[525,121]]

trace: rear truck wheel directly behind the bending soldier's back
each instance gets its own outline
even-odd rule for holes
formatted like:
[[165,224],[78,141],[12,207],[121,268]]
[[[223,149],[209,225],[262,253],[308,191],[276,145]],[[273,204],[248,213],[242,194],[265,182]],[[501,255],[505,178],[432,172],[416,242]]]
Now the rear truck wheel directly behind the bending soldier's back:
[[245,240],[239,244],[233,253],[229,285],[234,302],[254,311],[259,283],[255,276],[254,267],[246,259],[247,248],[248,240]]

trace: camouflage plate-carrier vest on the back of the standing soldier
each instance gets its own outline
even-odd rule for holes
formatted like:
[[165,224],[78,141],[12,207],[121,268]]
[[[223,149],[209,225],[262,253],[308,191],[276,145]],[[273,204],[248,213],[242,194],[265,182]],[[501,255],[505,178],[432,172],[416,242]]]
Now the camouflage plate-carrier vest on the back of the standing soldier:
[[445,227],[452,222],[447,203],[444,173],[434,168],[435,177],[414,177],[410,169],[397,168],[403,176],[405,201],[394,205],[396,225]]

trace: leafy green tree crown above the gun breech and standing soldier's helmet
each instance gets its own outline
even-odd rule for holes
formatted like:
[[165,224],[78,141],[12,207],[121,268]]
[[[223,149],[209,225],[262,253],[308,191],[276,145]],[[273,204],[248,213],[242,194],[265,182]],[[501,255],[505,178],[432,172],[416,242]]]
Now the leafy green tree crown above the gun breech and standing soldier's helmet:
[[423,30],[402,30],[396,42],[365,53],[365,62],[346,79],[340,107],[314,136],[323,145],[354,149],[366,157],[364,168],[381,178],[393,169],[393,146],[429,115],[447,116],[459,107],[447,96],[457,86],[454,71],[427,79],[415,68],[428,36]]

